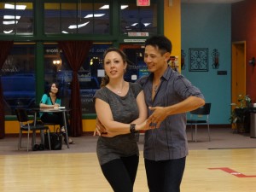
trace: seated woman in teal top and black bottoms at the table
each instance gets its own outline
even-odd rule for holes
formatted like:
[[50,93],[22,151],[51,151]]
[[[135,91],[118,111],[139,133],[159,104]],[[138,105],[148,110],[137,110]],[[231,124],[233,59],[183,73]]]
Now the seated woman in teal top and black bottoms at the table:
[[[56,83],[52,83],[49,85],[49,92],[45,93],[42,96],[41,102],[39,107],[40,108],[59,108],[61,106],[61,98],[58,96],[59,86]],[[65,135],[65,128],[64,128],[64,119],[62,113],[39,113],[40,119],[44,123],[52,123],[60,125],[61,132]],[[70,126],[67,125],[67,133],[68,135],[71,134]],[[66,137],[64,137],[65,143]],[[69,144],[75,144],[73,140],[68,137]]]

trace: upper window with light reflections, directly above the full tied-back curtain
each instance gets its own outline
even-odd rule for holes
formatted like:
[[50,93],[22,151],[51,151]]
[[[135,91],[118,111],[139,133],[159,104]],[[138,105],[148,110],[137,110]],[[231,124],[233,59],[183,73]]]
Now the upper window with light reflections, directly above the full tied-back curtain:
[[46,34],[109,34],[109,3],[44,3]]

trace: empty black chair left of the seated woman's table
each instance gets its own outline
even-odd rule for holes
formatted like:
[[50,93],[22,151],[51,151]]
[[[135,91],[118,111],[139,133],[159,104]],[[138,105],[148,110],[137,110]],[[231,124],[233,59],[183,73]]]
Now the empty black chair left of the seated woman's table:
[[[26,143],[26,150],[28,151],[28,145],[29,145],[29,134],[32,131],[32,146],[35,143],[35,134],[36,131],[47,131],[48,133],[48,141],[49,141],[49,127],[44,125],[37,125],[34,123],[29,123],[29,117],[27,115],[25,108],[16,108],[15,113],[17,116],[17,119],[20,123],[20,136],[19,136],[19,143],[18,143],[18,150],[21,148],[21,138],[22,138],[22,131],[27,132],[27,143]],[[50,141],[49,141],[50,146]],[[50,149],[50,148],[49,148]]]

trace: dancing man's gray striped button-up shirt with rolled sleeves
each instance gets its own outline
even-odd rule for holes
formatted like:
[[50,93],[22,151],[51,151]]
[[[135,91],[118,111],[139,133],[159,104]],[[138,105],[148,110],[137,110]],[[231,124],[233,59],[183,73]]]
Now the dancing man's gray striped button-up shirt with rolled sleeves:
[[[160,86],[152,100],[153,73],[137,80],[143,86],[147,106],[167,107],[182,102],[189,96],[204,99],[201,91],[183,75],[167,67]],[[152,111],[148,109],[148,116]],[[173,114],[161,122],[159,129],[145,132],[144,158],[147,160],[173,160],[189,153],[186,135],[186,113]]]

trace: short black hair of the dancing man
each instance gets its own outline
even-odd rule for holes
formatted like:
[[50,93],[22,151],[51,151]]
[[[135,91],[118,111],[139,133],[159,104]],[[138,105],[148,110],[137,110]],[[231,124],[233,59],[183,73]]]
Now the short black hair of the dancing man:
[[145,41],[145,46],[147,45],[160,49],[162,54],[166,52],[172,53],[172,42],[165,36],[152,36]]

